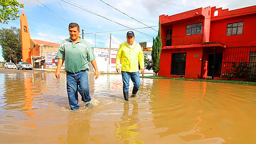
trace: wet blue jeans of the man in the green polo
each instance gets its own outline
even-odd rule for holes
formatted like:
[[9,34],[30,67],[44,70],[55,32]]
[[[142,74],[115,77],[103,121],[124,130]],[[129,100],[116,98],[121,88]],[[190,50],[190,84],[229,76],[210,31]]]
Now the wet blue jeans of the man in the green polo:
[[78,109],[78,92],[82,96],[82,101],[91,101],[88,71],[80,71],[78,73],[67,73],[67,92],[68,101],[71,110]]

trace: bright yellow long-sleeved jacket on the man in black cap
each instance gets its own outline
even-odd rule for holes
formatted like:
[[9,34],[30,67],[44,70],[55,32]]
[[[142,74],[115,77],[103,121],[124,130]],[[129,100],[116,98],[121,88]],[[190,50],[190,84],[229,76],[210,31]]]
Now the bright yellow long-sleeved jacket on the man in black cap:
[[120,60],[122,62],[122,71],[131,73],[139,71],[139,63],[140,68],[145,68],[141,46],[136,42],[133,45],[124,42],[119,46],[116,54],[116,68],[120,67]]

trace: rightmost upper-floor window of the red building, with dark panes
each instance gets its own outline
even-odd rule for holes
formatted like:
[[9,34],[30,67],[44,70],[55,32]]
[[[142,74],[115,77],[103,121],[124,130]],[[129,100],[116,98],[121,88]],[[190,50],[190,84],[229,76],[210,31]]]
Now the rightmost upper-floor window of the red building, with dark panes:
[[242,35],[243,34],[244,22],[228,23],[227,25],[227,36],[230,35]]

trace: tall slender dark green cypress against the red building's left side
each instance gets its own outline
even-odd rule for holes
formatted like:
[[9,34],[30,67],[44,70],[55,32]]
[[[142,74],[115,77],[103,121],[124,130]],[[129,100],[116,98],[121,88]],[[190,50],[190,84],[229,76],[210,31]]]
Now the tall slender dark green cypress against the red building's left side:
[[156,75],[159,71],[159,62],[160,62],[161,51],[162,51],[161,23],[159,20],[158,35],[156,36],[156,39],[153,37],[153,46],[152,46],[152,53],[151,53],[152,68]]

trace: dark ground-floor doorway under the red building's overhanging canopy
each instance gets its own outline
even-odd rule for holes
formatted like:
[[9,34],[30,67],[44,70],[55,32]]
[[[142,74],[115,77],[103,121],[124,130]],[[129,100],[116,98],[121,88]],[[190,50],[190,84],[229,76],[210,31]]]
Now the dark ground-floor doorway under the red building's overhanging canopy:
[[207,76],[220,77],[221,65],[222,65],[222,53],[215,53],[215,58],[214,58],[214,54],[209,54]]

